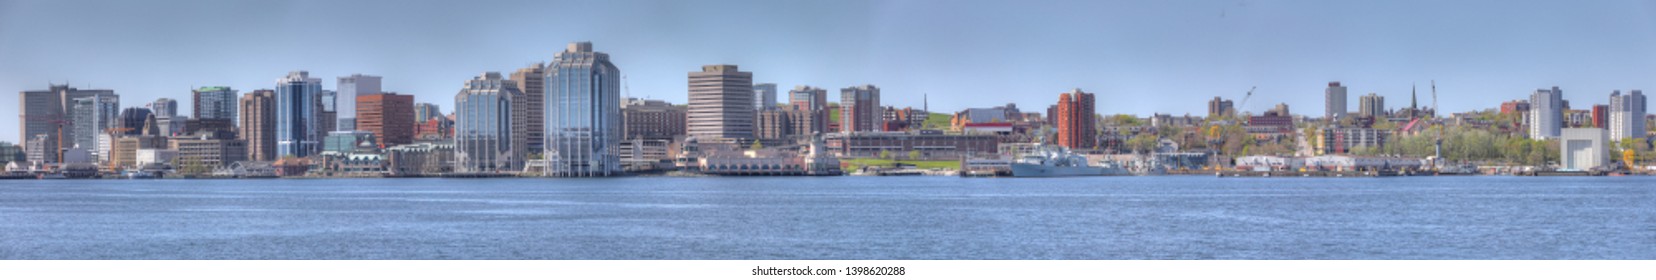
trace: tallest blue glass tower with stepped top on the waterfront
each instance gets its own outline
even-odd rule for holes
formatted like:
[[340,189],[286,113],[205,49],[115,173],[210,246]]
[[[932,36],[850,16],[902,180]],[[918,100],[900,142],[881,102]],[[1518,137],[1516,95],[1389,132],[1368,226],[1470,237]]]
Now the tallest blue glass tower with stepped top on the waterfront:
[[576,41],[546,66],[546,176],[621,172],[621,70]]

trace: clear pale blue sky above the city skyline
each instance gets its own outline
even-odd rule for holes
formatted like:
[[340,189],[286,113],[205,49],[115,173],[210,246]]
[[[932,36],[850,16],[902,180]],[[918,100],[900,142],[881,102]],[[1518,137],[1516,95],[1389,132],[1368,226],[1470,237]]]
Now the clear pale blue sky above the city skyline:
[[[189,114],[190,88],[247,93],[305,70],[326,89],[384,76],[386,91],[449,113],[464,81],[570,41],[609,53],[624,94],[671,103],[702,65],[830,99],[876,84],[888,106],[941,113],[1045,113],[1073,88],[1096,93],[1101,114],[1139,116],[1201,116],[1214,96],[1320,116],[1328,81],[1350,88],[1351,109],[1366,93],[1408,106],[1416,84],[1429,104],[1432,81],[1446,111],[1550,86],[1573,104],[1656,89],[1656,2],[0,0],[0,91],[68,83],[128,108],[174,98]],[[15,142],[18,104],[0,113],[0,141]]]

